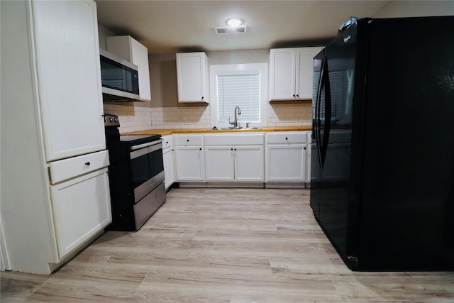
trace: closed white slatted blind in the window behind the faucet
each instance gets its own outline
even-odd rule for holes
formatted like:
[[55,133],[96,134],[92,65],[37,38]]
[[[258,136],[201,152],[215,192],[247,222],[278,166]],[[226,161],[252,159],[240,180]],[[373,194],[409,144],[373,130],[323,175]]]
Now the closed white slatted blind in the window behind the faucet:
[[260,71],[217,75],[218,121],[233,121],[235,106],[240,106],[241,122],[260,122]]

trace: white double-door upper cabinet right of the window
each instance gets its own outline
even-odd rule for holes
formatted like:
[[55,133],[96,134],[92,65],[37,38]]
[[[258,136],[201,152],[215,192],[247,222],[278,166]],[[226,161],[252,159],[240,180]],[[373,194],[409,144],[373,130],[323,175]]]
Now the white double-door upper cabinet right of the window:
[[312,99],[312,60],[322,49],[270,50],[270,101]]

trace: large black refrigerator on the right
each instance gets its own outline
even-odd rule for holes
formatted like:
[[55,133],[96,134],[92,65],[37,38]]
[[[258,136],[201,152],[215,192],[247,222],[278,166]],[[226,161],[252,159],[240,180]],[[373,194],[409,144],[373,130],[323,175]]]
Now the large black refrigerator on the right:
[[364,18],[314,57],[311,208],[351,270],[454,269],[454,17]]

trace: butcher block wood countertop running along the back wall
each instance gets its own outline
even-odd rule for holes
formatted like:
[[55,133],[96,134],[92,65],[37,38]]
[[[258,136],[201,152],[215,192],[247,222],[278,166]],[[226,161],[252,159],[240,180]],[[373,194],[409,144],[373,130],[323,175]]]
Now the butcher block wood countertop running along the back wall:
[[146,129],[144,131],[131,131],[121,133],[122,135],[157,135],[161,136],[172,135],[172,133],[252,133],[252,132],[270,132],[270,131],[311,131],[312,126],[275,126],[262,127],[260,129],[246,130],[209,130],[201,128],[180,128],[180,129]]

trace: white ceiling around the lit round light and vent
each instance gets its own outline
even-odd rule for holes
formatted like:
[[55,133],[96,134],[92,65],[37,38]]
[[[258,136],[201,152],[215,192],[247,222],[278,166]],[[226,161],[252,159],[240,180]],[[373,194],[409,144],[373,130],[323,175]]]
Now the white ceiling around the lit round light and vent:
[[[350,16],[373,17],[390,2],[96,0],[99,23],[148,53],[323,45]],[[247,33],[216,34],[231,17],[243,18]]]

